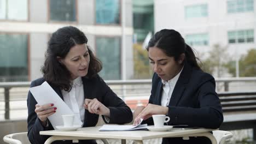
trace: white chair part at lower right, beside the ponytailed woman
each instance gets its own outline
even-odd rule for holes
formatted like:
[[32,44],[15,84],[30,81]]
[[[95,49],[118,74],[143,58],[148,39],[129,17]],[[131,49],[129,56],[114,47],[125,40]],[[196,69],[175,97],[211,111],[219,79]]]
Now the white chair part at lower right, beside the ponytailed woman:
[[218,144],[224,144],[226,141],[229,141],[230,138],[233,136],[231,132],[224,130],[214,130],[212,131],[212,133]]

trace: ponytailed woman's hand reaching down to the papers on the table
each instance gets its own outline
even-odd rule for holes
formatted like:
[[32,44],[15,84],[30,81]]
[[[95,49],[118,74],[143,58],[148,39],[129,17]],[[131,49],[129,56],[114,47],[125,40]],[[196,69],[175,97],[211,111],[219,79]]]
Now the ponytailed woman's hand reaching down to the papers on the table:
[[148,104],[141,113],[134,119],[133,125],[138,124],[141,121],[141,118],[143,120],[148,119],[149,117],[152,117],[152,115],[167,115],[168,113],[168,107],[161,106],[161,105],[154,105],[154,104]]

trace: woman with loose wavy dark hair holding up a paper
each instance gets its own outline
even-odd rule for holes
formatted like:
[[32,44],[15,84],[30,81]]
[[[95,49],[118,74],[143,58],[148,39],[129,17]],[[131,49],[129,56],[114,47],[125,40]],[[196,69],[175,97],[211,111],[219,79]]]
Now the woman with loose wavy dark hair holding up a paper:
[[[89,49],[87,42],[84,33],[72,26],[54,32],[45,53],[43,77],[32,81],[31,87],[48,82],[75,113],[83,127],[94,127],[99,115],[102,115],[106,123],[131,122],[130,108],[97,74],[102,65]],[[28,92],[27,107],[28,139],[31,143],[44,143],[49,136],[39,135],[39,131],[54,129],[47,117],[54,115],[58,107],[54,104],[38,105],[31,92]],[[81,140],[79,143],[96,141]]]

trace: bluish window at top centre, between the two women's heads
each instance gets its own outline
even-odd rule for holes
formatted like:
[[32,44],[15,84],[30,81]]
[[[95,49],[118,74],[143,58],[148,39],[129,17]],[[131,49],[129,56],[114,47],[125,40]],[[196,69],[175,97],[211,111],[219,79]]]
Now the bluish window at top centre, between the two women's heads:
[[96,0],[96,23],[120,24],[120,0]]

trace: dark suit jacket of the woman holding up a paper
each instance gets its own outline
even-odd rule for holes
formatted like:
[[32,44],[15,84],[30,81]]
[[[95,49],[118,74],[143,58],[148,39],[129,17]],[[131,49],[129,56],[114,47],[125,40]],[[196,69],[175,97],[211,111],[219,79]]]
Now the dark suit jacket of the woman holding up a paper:
[[[41,85],[45,80],[43,78],[34,80],[31,82],[31,87]],[[84,98],[94,99],[96,98],[102,104],[107,106],[110,110],[110,121],[109,123],[124,124],[132,121],[131,109],[121,100],[101,79],[100,76],[96,75],[92,78],[82,77],[84,85]],[[62,93],[60,88],[53,87],[54,91],[61,97]],[[28,139],[31,143],[44,143],[49,136],[39,135],[39,131],[53,130],[53,126],[49,124],[49,127],[44,128],[37,117],[35,105],[37,101],[34,99],[31,92],[28,92],[27,107],[28,107],[28,118],[27,118],[27,129]],[[104,117],[103,117],[104,119]],[[61,121],[61,119],[60,119]],[[105,121],[105,119],[104,119]],[[85,118],[83,127],[94,127],[98,122],[98,115],[90,113],[85,110]],[[106,121],[105,121],[106,122]],[[72,141],[55,141],[54,143],[72,143]],[[96,143],[95,140],[81,140],[79,143]]]

